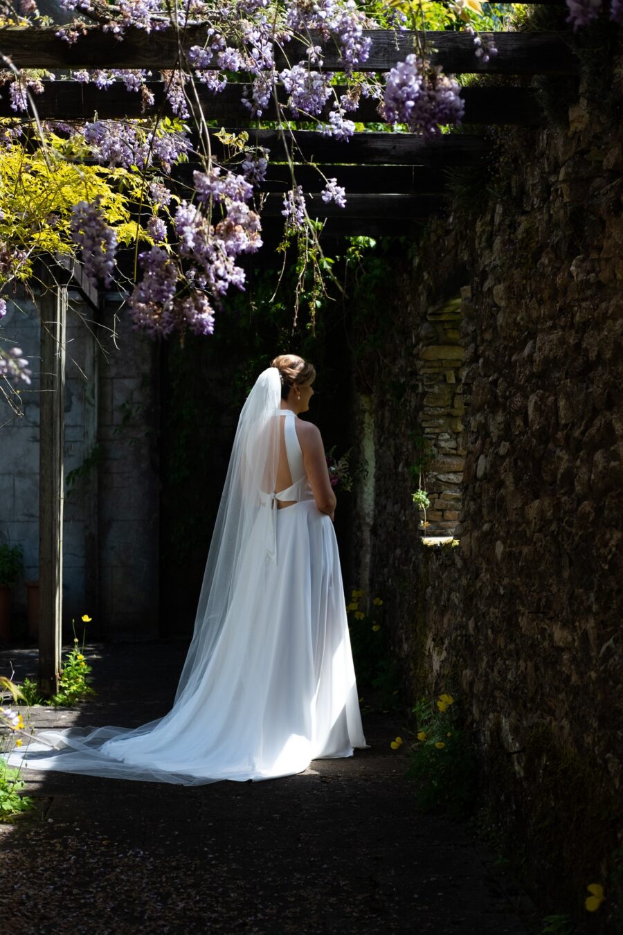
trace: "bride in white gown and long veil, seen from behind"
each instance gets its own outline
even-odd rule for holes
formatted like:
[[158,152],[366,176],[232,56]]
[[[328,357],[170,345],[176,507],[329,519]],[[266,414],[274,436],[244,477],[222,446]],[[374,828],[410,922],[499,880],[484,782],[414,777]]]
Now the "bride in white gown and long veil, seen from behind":
[[243,407],[171,711],[134,729],[38,731],[10,766],[199,785],[366,746],[335,496],[319,430],[297,418],[315,377],[276,357]]

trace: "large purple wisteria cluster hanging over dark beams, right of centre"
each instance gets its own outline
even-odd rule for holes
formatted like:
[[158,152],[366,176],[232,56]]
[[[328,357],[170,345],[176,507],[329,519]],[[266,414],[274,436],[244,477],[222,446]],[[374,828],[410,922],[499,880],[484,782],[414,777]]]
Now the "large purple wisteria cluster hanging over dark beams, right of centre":
[[465,104],[455,79],[439,66],[422,67],[417,55],[407,55],[386,75],[383,111],[389,123],[406,123],[412,133],[434,137],[443,123],[460,123]]

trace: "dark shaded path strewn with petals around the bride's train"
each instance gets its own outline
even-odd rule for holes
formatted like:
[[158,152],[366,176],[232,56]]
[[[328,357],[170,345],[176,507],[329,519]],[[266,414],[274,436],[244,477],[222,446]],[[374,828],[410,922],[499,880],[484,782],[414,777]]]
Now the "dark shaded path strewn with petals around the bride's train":
[[[87,647],[100,695],[34,726],[138,725],[169,710],[178,643]],[[0,653],[21,681],[35,652]],[[24,770],[34,813],[0,825],[11,935],[386,932],[534,935],[538,912],[467,829],[422,816],[389,741],[263,783],[185,787]]]

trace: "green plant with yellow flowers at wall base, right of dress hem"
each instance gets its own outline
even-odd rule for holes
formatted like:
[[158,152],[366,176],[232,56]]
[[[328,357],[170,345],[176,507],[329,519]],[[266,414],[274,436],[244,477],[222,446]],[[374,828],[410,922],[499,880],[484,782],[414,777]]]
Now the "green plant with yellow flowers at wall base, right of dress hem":
[[411,745],[408,775],[418,783],[418,808],[454,817],[470,813],[477,760],[474,741],[460,723],[455,699],[446,694],[436,702],[420,699],[413,713],[418,733]]

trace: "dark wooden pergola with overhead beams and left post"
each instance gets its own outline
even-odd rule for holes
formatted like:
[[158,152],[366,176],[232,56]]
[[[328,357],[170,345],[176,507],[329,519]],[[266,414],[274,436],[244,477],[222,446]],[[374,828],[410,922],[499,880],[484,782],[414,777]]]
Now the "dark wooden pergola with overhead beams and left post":
[[[551,6],[557,0],[542,0]],[[569,33],[495,33],[499,50],[483,64],[474,55],[473,37],[463,33],[369,31],[370,56],[360,70],[388,71],[414,49],[418,38],[434,49],[432,64],[443,65],[446,73],[517,76],[578,74],[579,62],[573,54]],[[324,68],[339,72],[343,65],[332,43],[314,36],[323,47]],[[178,33],[173,29],[150,33],[127,31],[122,42],[110,33],[90,31],[74,45],[55,36],[53,29],[7,28],[0,32],[0,50],[18,68],[50,70],[78,68],[172,69],[183,65],[183,57],[193,45],[203,45],[205,27],[190,26]],[[277,67],[304,59],[306,45],[292,42],[277,56]],[[121,82],[106,90],[72,79],[44,81],[45,92],[36,98],[41,118],[59,120],[140,119],[155,114],[170,115],[163,81],[151,81],[153,104],[142,108],[139,94],[129,93]],[[262,203],[262,226],[269,234],[281,223],[283,194],[290,189],[291,175],[283,136],[277,130],[256,129],[248,111],[240,103],[243,83],[229,83],[223,92],[213,94],[197,85],[197,94],[207,119],[219,121],[229,131],[247,129],[249,143],[271,151]],[[339,89],[337,89],[339,92]],[[344,89],[346,90],[346,88]],[[297,183],[304,188],[310,217],[327,219],[323,236],[410,234],[433,212],[443,208],[446,169],[475,165],[488,155],[483,127],[488,125],[537,126],[544,122],[536,92],[524,84],[504,87],[477,85],[461,92],[465,100],[463,123],[474,124],[477,132],[445,134],[426,141],[409,133],[358,133],[347,142],[322,137],[310,130],[296,132],[291,157],[296,164]],[[284,98],[285,100],[285,98]],[[0,101],[0,117],[15,117],[6,98]],[[278,117],[275,104],[262,116],[265,121]],[[348,114],[356,122],[380,122],[376,102],[362,98],[356,111]],[[291,120],[290,116],[288,117]],[[296,121],[293,121],[296,122]],[[211,145],[217,158],[222,147],[216,134]],[[327,205],[321,199],[321,176],[334,177],[347,188],[347,208]],[[190,167],[191,169],[191,167]],[[190,172],[189,166],[181,172]],[[273,221],[275,219],[275,221]],[[63,588],[63,413],[64,413],[64,327],[67,283],[73,276],[93,304],[92,294],[83,281],[78,265],[66,276],[44,284],[41,295],[41,434],[40,434],[40,626],[39,685],[42,693],[57,690],[61,669],[61,614]],[[55,392],[49,392],[55,391]]]

